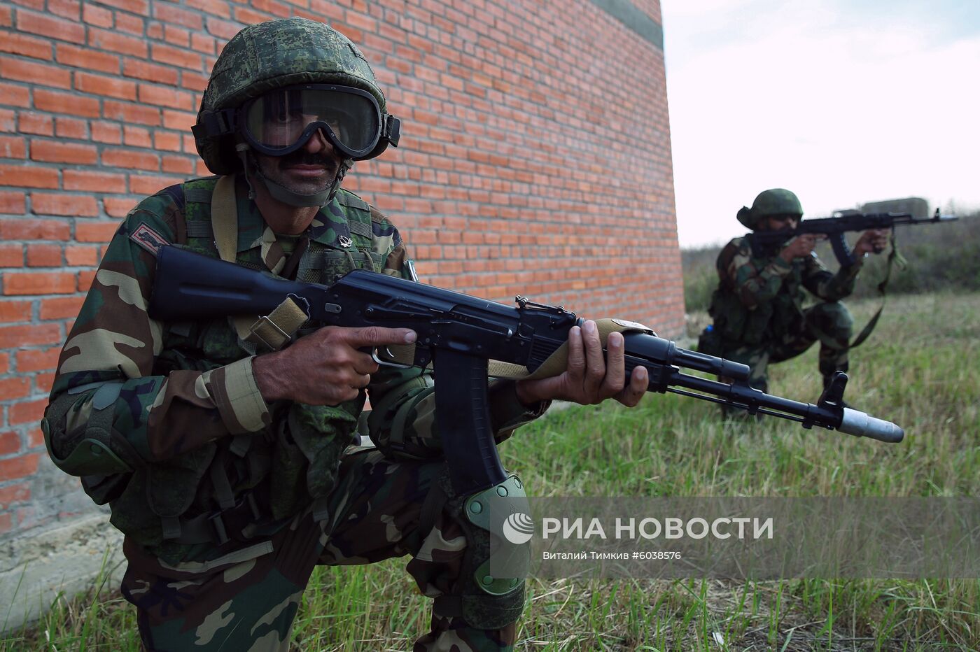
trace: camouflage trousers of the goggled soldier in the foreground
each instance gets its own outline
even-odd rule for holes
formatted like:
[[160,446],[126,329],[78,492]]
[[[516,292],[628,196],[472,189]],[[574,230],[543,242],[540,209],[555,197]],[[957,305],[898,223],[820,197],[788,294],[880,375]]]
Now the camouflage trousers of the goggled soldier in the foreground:
[[[226,543],[207,562],[174,565],[126,539],[123,596],[136,606],[149,650],[289,649],[292,622],[316,565],[370,564],[412,555],[408,571],[425,595],[459,595],[466,536],[448,507],[421,532],[422,505],[444,465],[394,461],[377,450],[345,455],[337,487],[268,540]],[[328,516],[317,522],[315,513]],[[230,546],[227,551],[225,547]],[[515,624],[473,629],[433,610],[414,652],[510,650]],[[366,648],[367,649],[367,648]]]

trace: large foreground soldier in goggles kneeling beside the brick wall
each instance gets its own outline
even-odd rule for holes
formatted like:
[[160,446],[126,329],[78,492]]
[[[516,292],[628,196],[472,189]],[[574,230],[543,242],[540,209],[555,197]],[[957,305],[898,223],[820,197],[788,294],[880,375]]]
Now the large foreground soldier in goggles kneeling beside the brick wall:
[[[330,283],[355,267],[410,278],[398,230],[340,189],[355,161],[397,145],[398,129],[346,37],[304,19],[245,27],[222,50],[194,127],[223,176],[142,201],[102,260],[42,428],[55,463],[112,508],[123,595],[149,649],[287,649],[316,564],[406,554],[435,598],[417,650],[514,643],[523,584],[474,578],[488,533],[446,482],[432,377],[379,371],[364,352],[414,332],[301,327],[280,349],[262,321],[146,313],[156,252],[172,243],[291,279]],[[562,375],[492,384],[498,441],[552,398],[643,396],[645,369],[625,384],[621,335],[608,359],[594,322],[568,345]],[[367,394],[377,448],[351,452]]]

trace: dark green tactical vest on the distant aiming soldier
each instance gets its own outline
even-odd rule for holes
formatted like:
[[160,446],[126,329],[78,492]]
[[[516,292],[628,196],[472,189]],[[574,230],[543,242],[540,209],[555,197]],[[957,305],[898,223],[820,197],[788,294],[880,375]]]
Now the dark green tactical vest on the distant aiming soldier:
[[[718,269],[727,270],[731,258],[738,247],[728,245],[718,256]],[[751,262],[757,269],[763,269],[774,256],[753,256]],[[734,287],[726,280],[718,284],[711,295],[709,314],[714,329],[721,337],[722,349],[730,350],[739,346],[755,346],[797,333],[804,327],[803,303],[806,299],[803,287],[804,263],[794,260],[793,269],[783,278],[783,284],[776,296],[755,308],[748,308],[739,299]]]

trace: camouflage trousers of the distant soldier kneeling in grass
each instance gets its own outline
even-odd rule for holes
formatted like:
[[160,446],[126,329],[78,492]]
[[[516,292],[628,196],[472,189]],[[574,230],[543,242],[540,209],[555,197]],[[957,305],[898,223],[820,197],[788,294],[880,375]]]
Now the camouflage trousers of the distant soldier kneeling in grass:
[[769,363],[796,357],[820,342],[819,370],[824,387],[835,371],[848,370],[848,351],[854,317],[844,303],[816,303],[803,311],[804,327],[777,339],[755,345],[726,343],[723,357],[749,365],[749,384],[768,393]]

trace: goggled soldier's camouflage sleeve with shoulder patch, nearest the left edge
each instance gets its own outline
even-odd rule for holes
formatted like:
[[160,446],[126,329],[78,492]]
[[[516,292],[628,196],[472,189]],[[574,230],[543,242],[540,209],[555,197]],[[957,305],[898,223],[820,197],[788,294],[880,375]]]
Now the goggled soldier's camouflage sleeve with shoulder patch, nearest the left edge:
[[178,211],[163,194],[144,200],[103,256],[62,349],[45,412],[56,462],[83,456],[75,449],[102,446],[131,468],[270,421],[244,352],[200,371],[157,368],[165,325],[149,317],[147,303],[156,248],[174,242],[183,223]]

